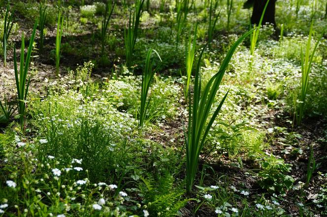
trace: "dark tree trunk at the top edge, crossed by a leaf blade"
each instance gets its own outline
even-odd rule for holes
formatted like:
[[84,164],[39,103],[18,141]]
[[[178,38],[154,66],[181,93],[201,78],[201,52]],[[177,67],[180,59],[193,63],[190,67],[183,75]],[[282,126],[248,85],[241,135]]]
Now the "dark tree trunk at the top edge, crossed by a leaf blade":
[[[252,25],[254,25],[254,24],[256,24],[257,26],[259,25],[261,15],[262,15],[262,12],[263,12],[263,9],[264,9],[264,6],[266,3],[267,3],[267,0],[254,0],[252,17],[251,17]],[[269,1],[266,11],[263,15],[262,24],[270,23],[270,24],[276,26],[275,5],[276,5],[276,0]]]

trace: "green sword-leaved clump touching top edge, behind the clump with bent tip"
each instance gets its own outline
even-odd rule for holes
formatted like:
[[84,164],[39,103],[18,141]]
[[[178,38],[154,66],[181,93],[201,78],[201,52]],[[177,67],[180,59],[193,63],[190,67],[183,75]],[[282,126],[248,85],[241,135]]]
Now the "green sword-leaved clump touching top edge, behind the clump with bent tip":
[[132,57],[134,53],[134,46],[136,43],[138,26],[140,23],[140,17],[142,15],[142,7],[144,4],[144,0],[136,0],[135,8],[133,12],[133,17],[131,18],[130,11],[130,19],[129,19],[129,27],[126,31],[124,30],[124,40],[125,40],[125,49],[126,49],[126,65],[131,67]]

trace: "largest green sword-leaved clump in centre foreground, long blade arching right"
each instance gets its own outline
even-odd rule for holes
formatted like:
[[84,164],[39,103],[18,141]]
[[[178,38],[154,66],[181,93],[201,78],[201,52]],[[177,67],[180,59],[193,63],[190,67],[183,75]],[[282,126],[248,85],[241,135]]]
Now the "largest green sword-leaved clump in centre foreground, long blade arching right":
[[224,101],[227,97],[228,92],[220,102],[217,109],[213,113],[210,121],[207,123],[207,119],[214,102],[216,93],[219,89],[220,83],[224,77],[225,71],[228,67],[229,61],[235,52],[237,46],[251,34],[253,30],[248,31],[242,35],[229,49],[228,54],[226,55],[219,71],[208,81],[203,89],[201,94],[201,76],[200,76],[200,64],[201,58],[204,52],[204,48],[199,56],[195,83],[194,83],[194,96],[193,102],[191,101],[191,96],[189,96],[189,124],[188,124],[188,133],[185,135],[186,143],[186,190],[188,193],[191,192],[193,183],[197,171],[197,163],[200,152],[204,145],[205,139],[210,131],[210,128],[216,119],[220,109],[222,108]]

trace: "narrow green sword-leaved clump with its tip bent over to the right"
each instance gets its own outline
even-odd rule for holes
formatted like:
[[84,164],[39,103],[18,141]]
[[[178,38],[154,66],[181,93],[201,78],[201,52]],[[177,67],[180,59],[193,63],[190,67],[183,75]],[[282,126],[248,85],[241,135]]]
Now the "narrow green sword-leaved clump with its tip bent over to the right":
[[[139,117],[139,122],[138,126],[143,127],[143,123],[146,117],[146,111],[149,106],[149,101],[147,101],[147,96],[150,88],[151,81],[155,75],[156,70],[153,69],[153,64],[154,61],[151,61],[151,54],[152,52],[155,52],[159,59],[161,60],[160,55],[156,50],[149,50],[148,54],[146,55],[146,60],[145,60],[145,68],[143,70],[142,74],[142,84],[141,84],[141,105],[140,105],[140,117]],[[162,60],[161,60],[162,61]]]

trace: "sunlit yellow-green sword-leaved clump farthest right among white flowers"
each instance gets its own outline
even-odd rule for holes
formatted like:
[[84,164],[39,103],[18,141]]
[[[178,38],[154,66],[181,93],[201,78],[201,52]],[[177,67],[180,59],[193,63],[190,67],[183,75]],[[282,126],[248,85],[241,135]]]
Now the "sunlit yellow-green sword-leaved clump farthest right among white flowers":
[[309,75],[311,72],[312,60],[314,58],[315,52],[318,48],[318,44],[322,39],[323,35],[317,40],[313,51],[311,52],[311,40],[313,33],[313,21],[311,22],[309,37],[306,45],[305,54],[303,54],[301,48],[301,92],[299,99],[297,101],[297,106],[295,106],[295,113],[297,125],[302,122],[305,109],[305,98],[307,95],[308,85],[309,85]]

